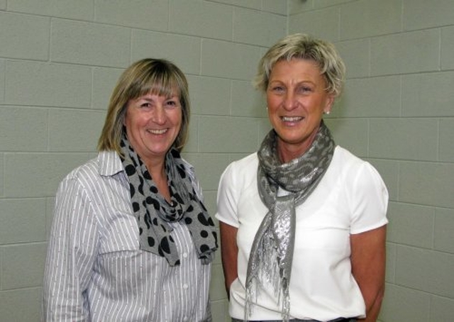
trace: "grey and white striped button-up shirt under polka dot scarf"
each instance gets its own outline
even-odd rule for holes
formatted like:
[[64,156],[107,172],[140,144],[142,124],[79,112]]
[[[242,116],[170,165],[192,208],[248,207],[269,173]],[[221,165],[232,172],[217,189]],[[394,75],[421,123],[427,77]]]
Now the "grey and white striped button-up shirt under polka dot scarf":
[[116,152],[100,152],[73,170],[55,201],[45,321],[211,321],[211,265],[201,265],[187,227],[171,225],[181,261],[176,267],[139,250],[128,178]]

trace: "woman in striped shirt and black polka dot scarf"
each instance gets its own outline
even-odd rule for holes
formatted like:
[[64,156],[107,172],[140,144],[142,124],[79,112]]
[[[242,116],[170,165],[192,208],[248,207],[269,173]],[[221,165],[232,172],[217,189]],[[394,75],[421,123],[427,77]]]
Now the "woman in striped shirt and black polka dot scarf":
[[128,67],[99,154],[57,191],[43,289],[45,321],[211,321],[214,222],[179,155],[187,79],[167,60]]

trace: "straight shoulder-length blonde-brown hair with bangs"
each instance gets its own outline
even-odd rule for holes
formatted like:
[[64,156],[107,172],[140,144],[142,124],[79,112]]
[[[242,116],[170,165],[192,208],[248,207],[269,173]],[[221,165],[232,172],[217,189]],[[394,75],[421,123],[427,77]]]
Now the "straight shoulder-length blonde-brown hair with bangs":
[[[177,90],[177,93],[175,93]],[[112,92],[106,121],[98,141],[98,150],[114,150],[121,155],[120,140],[128,101],[148,93],[171,96],[177,94],[182,106],[182,126],[173,146],[181,152],[189,128],[189,89],[183,72],[172,62],[145,58],[133,63],[121,74]]]

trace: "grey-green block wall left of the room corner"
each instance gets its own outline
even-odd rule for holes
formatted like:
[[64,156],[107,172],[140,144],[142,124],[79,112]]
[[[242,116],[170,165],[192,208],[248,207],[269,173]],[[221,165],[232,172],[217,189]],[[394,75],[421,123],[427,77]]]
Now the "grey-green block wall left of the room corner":
[[[123,69],[143,57],[182,68],[192,100],[184,156],[211,213],[228,163],[268,124],[250,81],[287,33],[286,0],[0,0],[0,321],[40,321],[55,191],[96,155]],[[220,255],[214,321],[227,321]]]

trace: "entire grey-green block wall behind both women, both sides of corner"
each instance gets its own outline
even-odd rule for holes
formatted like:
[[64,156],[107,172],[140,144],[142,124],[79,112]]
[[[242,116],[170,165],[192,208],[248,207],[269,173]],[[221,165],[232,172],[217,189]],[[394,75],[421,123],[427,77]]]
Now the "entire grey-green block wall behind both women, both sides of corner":
[[[250,81],[287,33],[336,43],[345,95],[327,123],[389,187],[381,321],[454,316],[454,4],[450,0],[0,0],[0,321],[39,321],[55,190],[96,155],[121,71],[173,60],[192,99],[184,156],[209,209],[269,126]],[[219,256],[218,256],[219,257]],[[219,258],[214,321],[227,321]]]

